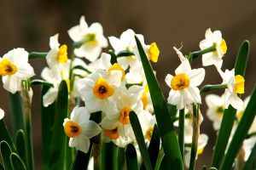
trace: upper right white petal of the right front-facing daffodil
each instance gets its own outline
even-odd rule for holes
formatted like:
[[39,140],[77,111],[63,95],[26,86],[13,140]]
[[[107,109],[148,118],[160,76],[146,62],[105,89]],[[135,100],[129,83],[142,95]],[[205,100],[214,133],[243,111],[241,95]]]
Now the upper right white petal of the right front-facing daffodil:
[[190,86],[199,86],[201,82],[205,79],[206,71],[205,69],[193,69],[189,71],[188,77],[190,79]]

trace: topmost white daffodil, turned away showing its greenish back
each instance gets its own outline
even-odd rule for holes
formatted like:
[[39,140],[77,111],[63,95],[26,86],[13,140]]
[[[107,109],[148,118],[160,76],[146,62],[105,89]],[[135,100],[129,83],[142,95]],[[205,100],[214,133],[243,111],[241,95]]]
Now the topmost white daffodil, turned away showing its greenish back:
[[108,47],[108,40],[103,36],[103,29],[100,23],[93,23],[88,26],[84,16],[80,18],[78,26],[73,26],[67,31],[74,42],[81,42],[79,48],[74,49],[78,57],[85,57],[90,62],[95,61],[102,53],[102,48]]

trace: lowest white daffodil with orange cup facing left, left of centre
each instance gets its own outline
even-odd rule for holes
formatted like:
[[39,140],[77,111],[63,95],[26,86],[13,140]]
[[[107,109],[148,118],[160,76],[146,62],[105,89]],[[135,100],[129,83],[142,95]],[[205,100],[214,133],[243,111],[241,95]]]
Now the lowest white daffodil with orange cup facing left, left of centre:
[[93,121],[85,107],[76,106],[70,119],[66,118],[63,123],[64,131],[69,137],[69,146],[75,147],[87,153],[90,147],[90,138],[101,133],[102,128]]

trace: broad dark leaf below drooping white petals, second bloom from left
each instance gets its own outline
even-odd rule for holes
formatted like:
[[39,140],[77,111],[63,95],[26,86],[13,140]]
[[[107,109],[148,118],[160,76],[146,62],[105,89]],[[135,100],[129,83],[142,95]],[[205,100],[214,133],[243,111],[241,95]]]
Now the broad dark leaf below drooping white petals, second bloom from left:
[[43,97],[49,90],[49,86],[43,85],[41,88],[41,130],[42,130],[42,159],[43,169],[49,169],[49,146],[52,137],[52,128],[55,121],[55,103],[44,107]]

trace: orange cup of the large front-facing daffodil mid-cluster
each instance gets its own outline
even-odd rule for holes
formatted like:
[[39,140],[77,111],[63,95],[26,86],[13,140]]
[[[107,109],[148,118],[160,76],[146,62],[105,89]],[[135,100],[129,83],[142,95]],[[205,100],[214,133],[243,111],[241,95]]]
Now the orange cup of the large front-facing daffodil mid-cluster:
[[96,95],[98,99],[107,99],[112,96],[114,89],[108,85],[108,82],[104,78],[99,78],[93,88],[93,94]]

